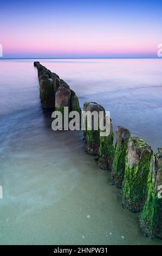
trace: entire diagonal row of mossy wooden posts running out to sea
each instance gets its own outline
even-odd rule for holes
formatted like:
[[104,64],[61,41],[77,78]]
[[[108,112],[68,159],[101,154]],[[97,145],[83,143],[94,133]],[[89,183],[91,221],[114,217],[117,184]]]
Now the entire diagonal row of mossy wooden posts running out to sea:
[[[38,71],[42,107],[62,113],[63,107],[69,107],[69,111],[81,113],[79,100],[68,84],[39,62],[34,62],[34,66]],[[105,113],[95,102],[85,102],[83,110]],[[87,153],[99,157],[99,167],[111,172],[111,184],[121,188],[122,206],[140,212],[142,233],[162,239],[162,149],[153,153],[145,141],[131,137],[129,130],[122,126],[116,130],[114,147],[112,120],[108,136],[100,136],[100,131],[93,129],[86,129],[83,135]]]

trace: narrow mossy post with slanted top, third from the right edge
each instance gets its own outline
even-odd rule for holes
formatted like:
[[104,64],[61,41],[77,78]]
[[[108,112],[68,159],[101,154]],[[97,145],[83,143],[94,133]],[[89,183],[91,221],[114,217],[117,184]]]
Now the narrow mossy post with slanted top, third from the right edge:
[[128,139],[131,133],[128,129],[118,126],[116,129],[115,155],[112,167],[112,173],[109,181],[117,187],[122,187],[125,174],[125,159],[128,149]]

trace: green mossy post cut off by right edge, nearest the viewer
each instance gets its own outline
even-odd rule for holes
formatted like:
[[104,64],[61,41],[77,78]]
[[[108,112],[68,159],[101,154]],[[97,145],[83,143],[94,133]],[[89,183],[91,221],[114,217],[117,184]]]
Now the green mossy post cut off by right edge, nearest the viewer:
[[162,238],[162,150],[151,157],[147,180],[147,199],[139,223],[142,233],[150,238]]

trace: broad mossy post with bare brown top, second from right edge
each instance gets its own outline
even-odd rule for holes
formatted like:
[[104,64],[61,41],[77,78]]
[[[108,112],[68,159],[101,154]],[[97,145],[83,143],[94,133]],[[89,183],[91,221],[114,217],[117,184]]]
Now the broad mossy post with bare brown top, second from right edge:
[[144,207],[152,154],[151,147],[141,138],[129,138],[122,186],[122,205],[134,212],[141,211]]

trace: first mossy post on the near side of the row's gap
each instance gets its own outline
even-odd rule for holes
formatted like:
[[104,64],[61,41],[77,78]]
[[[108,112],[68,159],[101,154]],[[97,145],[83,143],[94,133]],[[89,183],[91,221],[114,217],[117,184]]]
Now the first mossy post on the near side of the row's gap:
[[[85,141],[87,143],[86,151],[90,155],[98,155],[100,147],[100,127],[99,127],[99,112],[105,115],[105,109],[95,102],[85,102],[83,111],[88,113],[86,115],[86,130],[83,132]],[[90,118],[91,116],[91,118]],[[98,129],[95,130],[94,123],[98,123]]]

